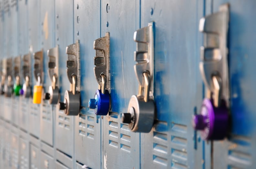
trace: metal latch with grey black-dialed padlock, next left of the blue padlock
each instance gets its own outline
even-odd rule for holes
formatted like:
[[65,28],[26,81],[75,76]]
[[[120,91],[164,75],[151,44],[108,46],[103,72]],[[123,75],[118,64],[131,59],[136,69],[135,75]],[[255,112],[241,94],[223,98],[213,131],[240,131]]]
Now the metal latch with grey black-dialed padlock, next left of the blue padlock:
[[64,102],[59,102],[59,109],[66,115],[76,116],[80,111],[80,48],[79,41],[67,46],[67,75],[70,90],[65,91]]

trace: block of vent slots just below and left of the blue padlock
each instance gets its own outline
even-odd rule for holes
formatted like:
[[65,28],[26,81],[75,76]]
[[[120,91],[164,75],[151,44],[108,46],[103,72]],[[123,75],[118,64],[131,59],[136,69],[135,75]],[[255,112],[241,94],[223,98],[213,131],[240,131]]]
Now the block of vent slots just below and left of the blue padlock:
[[79,135],[94,139],[94,117],[79,114],[79,120]]

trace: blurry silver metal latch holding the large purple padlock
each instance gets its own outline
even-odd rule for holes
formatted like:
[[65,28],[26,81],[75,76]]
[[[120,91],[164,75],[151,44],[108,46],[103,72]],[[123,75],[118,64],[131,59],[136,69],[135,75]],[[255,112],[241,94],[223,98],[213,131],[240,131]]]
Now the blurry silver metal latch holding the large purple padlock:
[[199,31],[204,33],[204,46],[201,47],[199,68],[215,107],[219,107],[221,100],[229,107],[228,29],[229,4],[221,5],[219,12],[200,19]]

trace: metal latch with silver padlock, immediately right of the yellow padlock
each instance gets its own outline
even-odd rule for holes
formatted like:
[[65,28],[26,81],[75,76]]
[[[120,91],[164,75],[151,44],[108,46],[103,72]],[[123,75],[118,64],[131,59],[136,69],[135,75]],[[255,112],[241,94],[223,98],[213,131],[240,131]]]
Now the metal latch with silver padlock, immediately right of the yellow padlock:
[[47,93],[44,93],[44,99],[48,100],[49,104],[57,104],[59,102],[59,46],[49,49],[48,55],[48,76],[52,82]]

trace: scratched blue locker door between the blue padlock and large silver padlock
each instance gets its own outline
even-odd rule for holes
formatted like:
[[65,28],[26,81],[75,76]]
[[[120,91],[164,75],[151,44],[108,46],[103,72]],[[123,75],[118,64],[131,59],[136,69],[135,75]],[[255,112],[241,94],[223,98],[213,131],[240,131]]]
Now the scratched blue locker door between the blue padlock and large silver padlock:
[[139,168],[140,134],[121,122],[129,100],[137,94],[138,82],[133,66],[136,43],[133,33],[139,29],[139,1],[101,1],[101,37],[110,33],[111,112],[103,117],[102,167]]

